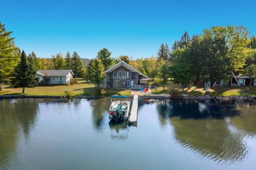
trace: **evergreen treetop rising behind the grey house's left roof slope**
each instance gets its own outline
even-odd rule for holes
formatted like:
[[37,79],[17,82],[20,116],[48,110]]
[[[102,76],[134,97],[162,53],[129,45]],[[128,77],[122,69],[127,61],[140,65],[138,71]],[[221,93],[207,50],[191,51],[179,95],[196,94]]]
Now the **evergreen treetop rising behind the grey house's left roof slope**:
[[109,67],[113,63],[113,58],[111,58],[111,52],[107,48],[102,48],[97,55],[97,58],[99,58],[105,67],[105,70],[108,70]]

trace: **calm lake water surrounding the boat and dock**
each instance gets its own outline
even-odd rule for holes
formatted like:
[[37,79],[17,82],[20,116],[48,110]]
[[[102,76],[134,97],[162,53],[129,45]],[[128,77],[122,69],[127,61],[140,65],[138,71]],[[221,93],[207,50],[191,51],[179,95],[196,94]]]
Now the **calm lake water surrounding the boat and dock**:
[[140,100],[109,123],[110,99],[0,100],[0,169],[255,169],[252,101]]

